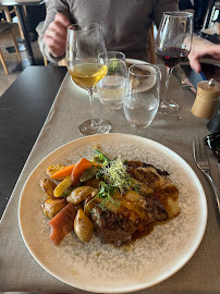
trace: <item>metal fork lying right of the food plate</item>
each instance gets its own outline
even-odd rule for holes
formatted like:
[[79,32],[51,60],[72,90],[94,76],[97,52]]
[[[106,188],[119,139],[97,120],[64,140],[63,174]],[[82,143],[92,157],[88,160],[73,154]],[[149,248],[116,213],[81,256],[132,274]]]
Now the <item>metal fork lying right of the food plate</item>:
[[219,193],[219,191],[213,182],[213,179],[211,177],[211,174],[210,174],[209,160],[208,160],[208,156],[207,156],[206,146],[205,146],[204,142],[201,142],[201,139],[199,139],[199,138],[196,138],[193,142],[193,155],[194,155],[194,160],[196,162],[196,166],[203,172],[203,174],[208,179],[208,181],[213,189],[216,200],[217,200],[217,206],[218,206],[219,213],[220,213],[220,193]]

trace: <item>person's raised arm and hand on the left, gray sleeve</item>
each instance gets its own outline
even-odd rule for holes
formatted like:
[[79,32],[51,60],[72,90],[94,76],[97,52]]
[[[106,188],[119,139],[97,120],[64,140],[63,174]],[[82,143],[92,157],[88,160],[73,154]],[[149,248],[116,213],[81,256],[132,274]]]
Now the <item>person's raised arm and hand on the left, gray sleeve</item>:
[[66,27],[72,21],[70,7],[65,0],[50,1],[39,36],[40,51],[47,60],[57,63],[64,58]]

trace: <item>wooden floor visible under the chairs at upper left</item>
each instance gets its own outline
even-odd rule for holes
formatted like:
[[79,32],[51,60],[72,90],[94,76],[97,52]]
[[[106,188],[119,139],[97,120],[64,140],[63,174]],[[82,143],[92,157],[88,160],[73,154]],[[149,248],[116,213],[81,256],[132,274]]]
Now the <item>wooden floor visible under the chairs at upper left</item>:
[[[15,33],[16,38],[20,38],[20,33],[19,33],[17,27],[14,28],[14,33]],[[19,45],[23,46],[22,42],[19,42]],[[11,84],[22,73],[22,71],[25,68],[25,64],[27,64],[27,52],[20,51],[21,58],[23,60],[22,63],[19,61],[15,52],[9,53],[7,48],[12,47],[13,41],[10,35],[8,34],[0,37],[0,46],[1,46],[3,58],[7,63],[7,68],[9,70],[9,75],[7,75],[0,62],[0,97],[1,97],[2,94],[11,86]],[[44,64],[42,56],[39,50],[38,42],[37,41],[32,42],[32,48],[33,48],[34,57],[37,59],[37,61],[39,61],[40,64]]]

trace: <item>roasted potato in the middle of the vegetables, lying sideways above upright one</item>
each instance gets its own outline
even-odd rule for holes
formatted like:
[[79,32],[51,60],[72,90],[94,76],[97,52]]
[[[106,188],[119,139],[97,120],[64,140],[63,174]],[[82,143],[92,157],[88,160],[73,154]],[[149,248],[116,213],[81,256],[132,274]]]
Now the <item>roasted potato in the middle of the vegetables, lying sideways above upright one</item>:
[[97,188],[93,188],[89,186],[81,186],[81,187],[76,187],[74,188],[71,194],[66,197],[66,200],[69,203],[72,203],[74,205],[77,205],[82,201],[84,201],[86,198],[88,197],[94,197],[96,196],[98,193]]

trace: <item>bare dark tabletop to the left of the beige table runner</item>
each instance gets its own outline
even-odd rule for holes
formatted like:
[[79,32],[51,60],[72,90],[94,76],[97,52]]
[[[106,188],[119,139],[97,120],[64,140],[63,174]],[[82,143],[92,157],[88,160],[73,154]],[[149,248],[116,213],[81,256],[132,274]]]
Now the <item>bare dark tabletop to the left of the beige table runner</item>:
[[0,98],[0,162],[7,168],[0,176],[0,217],[65,73],[65,68],[28,66]]

